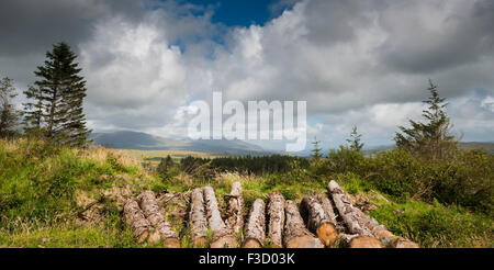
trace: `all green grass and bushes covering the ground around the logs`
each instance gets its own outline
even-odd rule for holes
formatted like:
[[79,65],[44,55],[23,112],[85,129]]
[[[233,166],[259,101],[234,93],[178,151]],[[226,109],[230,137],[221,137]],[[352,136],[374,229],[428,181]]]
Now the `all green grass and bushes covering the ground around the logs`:
[[[0,246],[141,246],[132,240],[115,201],[99,204],[99,218],[82,221],[78,216],[85,200],[98,200],[117,187],[130,187],[135,195],[144,189],[183,192],[211,184],[224,207],[223,195],[229,193],[232,182],[240,181],[249,207],[254,200],[266,199],[271,191],[300,200],[304,194],[325,190],[330,179],[338,181],[357,202],[372,205],[370,215],[394,234],[423,247],[493,246],[492,195],[480,196],[482,192],[467,189],[473,185],[492,192],[493,157],[483,151],[459,150],[454,159],[436,165],[415,159],[403,149],[366,157],[343,147],[318,165],[308,159],[285,158],[290,164],[285,171],[246,173],[244,169],[237,172],[217,167],[200,177],[182,171],[180,161],[173,158],[164,159],[166,167],[161,166],[159,172],[148,172],[117,150],[77,149],[30,139],[0,140],[0,162],[5,165],[0,168]],[[232,161],[250,159],[237,157]],[[221,160],[223,164],[227,158]],[[475,183],[480,179],[484,179],[482,185]],[[456,181],[462,185],[445,190],[442,196],[435,195],[444,189],[439,187]],[[440,183],[434,192],[415,187],[430,182]],[[177,229],[186,245],[187,228]]]

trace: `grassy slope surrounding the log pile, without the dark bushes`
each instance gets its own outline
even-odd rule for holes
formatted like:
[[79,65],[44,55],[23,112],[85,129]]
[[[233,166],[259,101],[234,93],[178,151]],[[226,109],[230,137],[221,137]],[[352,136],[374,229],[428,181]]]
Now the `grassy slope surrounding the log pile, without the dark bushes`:
[[[133,243],[113,201],[103,203],[99,222],[77,218],[80,194],[98,198],[113,187],[126,185],[137,194],[144,189],[188,191],[211,184],[223,198],[232,182],[242,181],[248,207],[255,199],[266,199],[273,190],[287,199],[299,200],[314,190],[323,191],[327,182],[290,180],[296,176],[238,173],[223,173],[210,181],[183,173],[160,180],[122,151],[59,148],[26,140],[0,140],[0,247],[141,247]],[[343,176],[337,181],[356,200],[366,198],[378,205],[371,215],[393,233],[423,247],[494,246],[492,220],[482,214],[439,203],[396,203],[368,190],[352,177]],[[223,200],[220,203],[225,205]],[[187,237],[182,238],[188,246]]]

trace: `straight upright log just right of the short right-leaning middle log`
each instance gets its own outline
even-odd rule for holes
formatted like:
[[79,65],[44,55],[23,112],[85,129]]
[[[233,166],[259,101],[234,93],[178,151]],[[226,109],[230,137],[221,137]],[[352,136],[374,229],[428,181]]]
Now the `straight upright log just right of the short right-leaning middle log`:
[[283,247],[282,233],[284,226],[284,199],[280,192],[272,192],[268,196],[268,237],[274,247]]

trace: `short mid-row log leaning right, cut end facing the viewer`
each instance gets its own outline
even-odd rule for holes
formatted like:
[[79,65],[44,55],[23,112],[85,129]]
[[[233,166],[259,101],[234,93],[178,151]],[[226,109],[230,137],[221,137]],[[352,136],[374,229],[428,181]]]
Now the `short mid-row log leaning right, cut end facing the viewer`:
[[254,201],[245,233],[245,248],[261,248],[266,239],[266,204],[261,199]]

